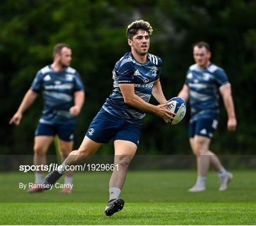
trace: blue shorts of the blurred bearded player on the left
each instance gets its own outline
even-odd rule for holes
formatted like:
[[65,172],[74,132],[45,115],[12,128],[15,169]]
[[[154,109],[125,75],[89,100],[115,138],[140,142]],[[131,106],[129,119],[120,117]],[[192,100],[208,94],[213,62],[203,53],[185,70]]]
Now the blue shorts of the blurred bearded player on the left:
[[75,133],[75,123],[49,125],[39,123],[35,136],[55,136],[58,135],[61,140],[73,141]]

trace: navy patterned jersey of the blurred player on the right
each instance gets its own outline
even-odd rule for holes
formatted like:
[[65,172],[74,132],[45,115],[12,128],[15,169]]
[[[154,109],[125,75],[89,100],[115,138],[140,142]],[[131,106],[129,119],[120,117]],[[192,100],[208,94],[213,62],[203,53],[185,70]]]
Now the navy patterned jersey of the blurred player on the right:
[[218,117],[219,87],[228,83],[225,71],[213,63],[205,69],[200,69],[196,63],[191,65],[185,84],[190,90],[192,119]]

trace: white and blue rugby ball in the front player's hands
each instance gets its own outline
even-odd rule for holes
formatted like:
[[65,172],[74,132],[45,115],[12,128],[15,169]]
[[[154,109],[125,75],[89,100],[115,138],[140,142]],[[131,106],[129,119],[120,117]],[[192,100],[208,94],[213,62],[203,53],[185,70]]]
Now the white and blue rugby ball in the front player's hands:
[[180,97],[174,97],[172,99],[169,99],[167,103],[171,103],[171,104],[169,106],[166,106],[165,108],[168,109],[169,111],[174,112],[176,115],[174,119],[171,119],[170,122],[168,122],[166,119],[165,119],[165,122],[175,125],[179,123],[186,114],[186,102],[184,99]]

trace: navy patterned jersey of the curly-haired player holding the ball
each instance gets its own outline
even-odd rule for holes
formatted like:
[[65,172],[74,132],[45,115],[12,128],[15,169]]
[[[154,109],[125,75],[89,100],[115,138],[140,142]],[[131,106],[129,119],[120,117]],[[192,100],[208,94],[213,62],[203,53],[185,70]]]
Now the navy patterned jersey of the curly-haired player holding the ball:
[[159,78],[161,70],[162,60],[158,56],[147,54],[147,63],[143,64],[138,63],[131,52],[125,54],[115,64],[113,91],[102,108],[117,118],[141,124],[146,115],[145,111],[124,102],[119,84],[134,84],[135,94],[149,102],[154,82]]

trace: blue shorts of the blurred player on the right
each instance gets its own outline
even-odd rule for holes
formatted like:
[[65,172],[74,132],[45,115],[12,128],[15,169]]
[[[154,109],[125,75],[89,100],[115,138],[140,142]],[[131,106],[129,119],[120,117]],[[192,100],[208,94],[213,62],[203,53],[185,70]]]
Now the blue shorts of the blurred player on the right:
[[189,122],[189,137],[192,138],[195,135],[199,135],[212,138],[218,123],[219,121],[216,118],[191,119]]

